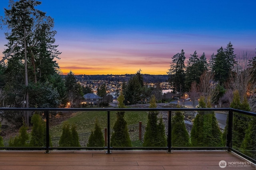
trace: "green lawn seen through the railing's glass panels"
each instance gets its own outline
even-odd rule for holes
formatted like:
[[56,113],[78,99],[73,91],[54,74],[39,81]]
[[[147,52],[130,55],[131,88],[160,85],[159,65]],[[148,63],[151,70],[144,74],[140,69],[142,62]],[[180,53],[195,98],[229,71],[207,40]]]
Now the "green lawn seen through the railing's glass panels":
[[[94,123],[98,119],[98,123],[102,130],[107,127],[107,112],[106,111],[80,111],[75,116],[69,118],[67,121],[71,124],[74,123],[77,126],[78,133],[88,133],[94,130]],[[146,111],[126,111],[125,119],[127,125],[138,124],[142,121],[143,125],[146,125],[148,119],[148,113]],[[116,121],[116,112],[110,112],[110,128],[114,126]],[[60,137],[62,134],[62,123],[50,127],[51,137]]]

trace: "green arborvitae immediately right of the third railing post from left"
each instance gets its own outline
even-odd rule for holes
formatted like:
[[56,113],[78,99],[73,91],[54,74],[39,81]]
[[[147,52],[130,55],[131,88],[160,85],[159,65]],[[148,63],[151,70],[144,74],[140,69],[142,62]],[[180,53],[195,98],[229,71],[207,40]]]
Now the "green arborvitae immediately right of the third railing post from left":
[[189,135],[184,122],[184,115],[181,111],[176,111],[174,117],[172,118],[172,146],[189,146]]

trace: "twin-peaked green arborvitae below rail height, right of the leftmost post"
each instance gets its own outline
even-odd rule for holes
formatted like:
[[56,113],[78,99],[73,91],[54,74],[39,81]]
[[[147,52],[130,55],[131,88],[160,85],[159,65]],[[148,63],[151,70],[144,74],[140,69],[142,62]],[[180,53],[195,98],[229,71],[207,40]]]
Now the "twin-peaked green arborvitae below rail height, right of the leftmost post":
[[76,125],[70,124],[65,121],[62,125],[62,135],[59,141],[60,147],[80,147],[78,133],[76,132]]

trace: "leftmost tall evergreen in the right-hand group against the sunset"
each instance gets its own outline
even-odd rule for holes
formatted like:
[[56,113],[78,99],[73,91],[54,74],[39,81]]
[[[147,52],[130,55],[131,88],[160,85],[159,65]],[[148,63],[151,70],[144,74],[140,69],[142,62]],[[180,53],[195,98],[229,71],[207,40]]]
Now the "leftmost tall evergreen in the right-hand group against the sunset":
[[172,57],[172,63],[168,72],[168,81],[174,87],[173,91],[176,94],[182,94],[184,92],[184,82],[185,82],[185,53],[181,50],[181,53],[177,53]]

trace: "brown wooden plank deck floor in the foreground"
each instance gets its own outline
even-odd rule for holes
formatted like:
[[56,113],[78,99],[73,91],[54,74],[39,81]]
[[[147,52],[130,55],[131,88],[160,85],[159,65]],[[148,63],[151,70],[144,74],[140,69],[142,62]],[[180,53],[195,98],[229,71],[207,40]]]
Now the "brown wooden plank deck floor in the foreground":
[[[225,160],[226,168],[219,162]],[[236,163],[234,163],[236,162]],[[226,151],[0,151],[0,170],[255,170]]]

